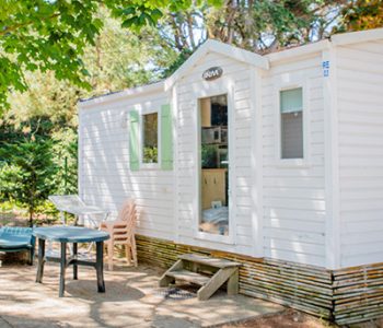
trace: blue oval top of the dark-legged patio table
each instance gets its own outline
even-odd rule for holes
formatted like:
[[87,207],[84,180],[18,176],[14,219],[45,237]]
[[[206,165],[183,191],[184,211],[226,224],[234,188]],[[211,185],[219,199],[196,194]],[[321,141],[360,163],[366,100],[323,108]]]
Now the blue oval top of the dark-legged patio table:
[[60,243],[92,243],[104,242],[109,238],[109,234],[104,231],[68,225],[36,227],[33,230],[33,235],[40,239]]

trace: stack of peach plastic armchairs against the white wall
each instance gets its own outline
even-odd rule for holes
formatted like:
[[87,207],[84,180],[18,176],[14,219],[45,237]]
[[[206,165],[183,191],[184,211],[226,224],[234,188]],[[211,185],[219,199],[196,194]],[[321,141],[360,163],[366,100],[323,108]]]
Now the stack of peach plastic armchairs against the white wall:
[[135,267],[137,267],[136,224],[137,209],[135,201],[131,199],[124,202],[117,220],[101,223],[101,230],[106,231],[111,235],[111,238],[105,243],[109,270],[113,270],[113,251],[115,245],[125,245],[128,265],[131,265],[132,260]]

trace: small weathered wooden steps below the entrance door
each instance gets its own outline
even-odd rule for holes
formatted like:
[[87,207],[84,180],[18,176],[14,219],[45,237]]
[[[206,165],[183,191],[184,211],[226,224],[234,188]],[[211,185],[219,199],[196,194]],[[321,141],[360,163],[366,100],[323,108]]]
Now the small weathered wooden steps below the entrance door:
[[201,256],[198,254],[184,254],[161,277],[160,286],[167,286],[176,280],[186,281],[200,286],[197,292],[199,301],[208,300],[227,283],[228,295],[239,292],[239,262]]

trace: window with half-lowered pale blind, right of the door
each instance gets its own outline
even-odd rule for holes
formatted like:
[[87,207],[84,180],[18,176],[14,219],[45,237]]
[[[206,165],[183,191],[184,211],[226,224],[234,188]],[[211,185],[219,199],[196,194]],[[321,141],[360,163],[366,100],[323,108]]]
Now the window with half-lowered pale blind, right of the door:
[[302,87],[280,92],[281,159],[303,159]]

